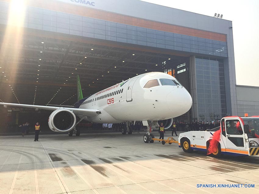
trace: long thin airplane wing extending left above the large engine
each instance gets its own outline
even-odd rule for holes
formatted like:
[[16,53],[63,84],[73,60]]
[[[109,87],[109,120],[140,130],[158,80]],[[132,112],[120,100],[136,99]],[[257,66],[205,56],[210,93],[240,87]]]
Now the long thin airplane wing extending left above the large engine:
[[38,106],[38,105],[30,105],[30,104],[14,104],[14,103],[3,103],[0,102],[0,105],[4,106],[17,106],[17,107],[23,107],[23,108],[30,108],[30,109],[44,109],[44,110],[56,110],[56,109],[67,109],[73,111],[73,113],[78,115],[84,115],[84,116],[90,116],[94,117],[98,114],[101,114],[101,111],[98,109],[77,109],[77,108],[64,108],[64,107],[58,107],[58,106]]

